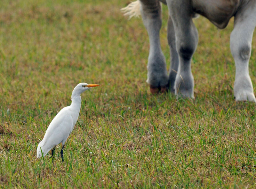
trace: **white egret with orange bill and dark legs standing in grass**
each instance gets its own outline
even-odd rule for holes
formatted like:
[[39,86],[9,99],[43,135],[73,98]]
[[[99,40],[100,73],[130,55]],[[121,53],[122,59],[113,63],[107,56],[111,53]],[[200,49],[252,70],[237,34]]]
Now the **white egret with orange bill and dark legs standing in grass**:
[[45,156],[52,148],[52,160],[54,155],[55,146],[60,142],[62,143],[62,148],[60,151],[62,162],[63,160],[63,149],[64,144],[68,139],[68,136],[73,131],[76,121],[79,116],[80,107],[81,107],[81,96],[80,94],[92,87],[97,87],[100,85],[97,84],[87,84],[80,83],[74,88],[71,100],[72,103],[70,106],[64,107],[60,112],[53,118],[49,127],[45,131],[44,138],[39,142],[37,147],[37,158],[40,158],[43,154]]

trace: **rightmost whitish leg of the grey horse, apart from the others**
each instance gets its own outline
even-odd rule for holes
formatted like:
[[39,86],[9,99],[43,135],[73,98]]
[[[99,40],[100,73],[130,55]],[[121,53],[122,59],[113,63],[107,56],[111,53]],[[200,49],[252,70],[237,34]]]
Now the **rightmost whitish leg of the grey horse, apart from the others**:
[[249,75],[249,59],[252,50],[252,35],[256,26],[256,6],[251,1],[242,7],[234,20],[234,29],[230,35],[230,49],[235,60],[236,78],[234,95],[236,101],[256,102],[252,81]]

